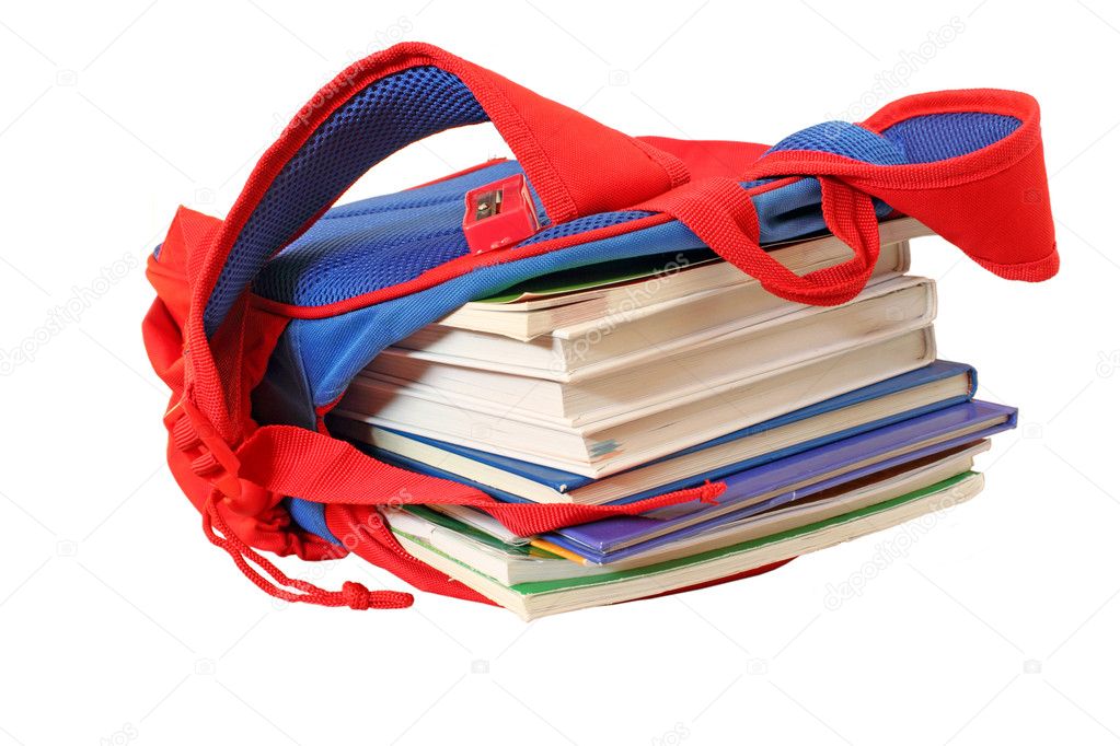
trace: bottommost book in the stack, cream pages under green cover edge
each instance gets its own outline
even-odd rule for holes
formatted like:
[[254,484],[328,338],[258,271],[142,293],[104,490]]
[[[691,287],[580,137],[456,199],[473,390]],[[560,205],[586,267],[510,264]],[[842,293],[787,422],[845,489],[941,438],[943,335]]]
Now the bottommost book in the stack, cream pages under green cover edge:
[[983,478],[964,472],[927,488],[849,513],[741,544],[655,565],[609,573],[506,586],[430,544],[398,532],[404,548],[421,561],[474,588],[524,620],[577,608],[662,595],[741,577],[749,570],[836,546],[908,520],[943,511],[980,492]]

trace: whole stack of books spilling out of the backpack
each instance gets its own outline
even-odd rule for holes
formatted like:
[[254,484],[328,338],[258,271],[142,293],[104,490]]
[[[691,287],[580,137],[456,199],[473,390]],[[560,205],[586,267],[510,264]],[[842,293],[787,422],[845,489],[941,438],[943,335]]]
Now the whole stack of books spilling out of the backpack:
[[[376,457],[503,501],[620,504],[726,490],[514,536],[458,507],[386,512],[404,548],[524,618],[744,577],[977,494],[1016,410],[936,359],[916,220],[880,226],[860,295],[791,303],[707,249],[579,267],[467,303],[390,348],[328,424]],[[768,247],[804,274],[832,236]]]

